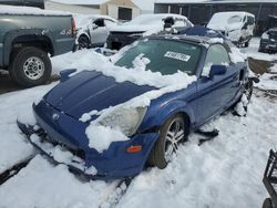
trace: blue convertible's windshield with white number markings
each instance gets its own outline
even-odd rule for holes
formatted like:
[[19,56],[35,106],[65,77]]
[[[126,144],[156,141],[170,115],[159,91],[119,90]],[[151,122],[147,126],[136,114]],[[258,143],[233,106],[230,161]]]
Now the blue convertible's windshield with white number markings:
[[196,44],[175,40],[142,40],[129,49],[115,65],[131,69],[135,66],[135,59],[146,58],[146,70],[152,72],[165,75],[182,71],[192,75],[195,73],[199,54],[201,48]]

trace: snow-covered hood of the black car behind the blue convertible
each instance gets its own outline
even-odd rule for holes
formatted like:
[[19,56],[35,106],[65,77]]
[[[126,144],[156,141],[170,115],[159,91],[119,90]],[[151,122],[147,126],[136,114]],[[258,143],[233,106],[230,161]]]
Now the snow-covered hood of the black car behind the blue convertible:
[[160,24],[125,24],[117,25],[111,29],[111,32],[146,32],[150,30],[163,29],[163,25]]

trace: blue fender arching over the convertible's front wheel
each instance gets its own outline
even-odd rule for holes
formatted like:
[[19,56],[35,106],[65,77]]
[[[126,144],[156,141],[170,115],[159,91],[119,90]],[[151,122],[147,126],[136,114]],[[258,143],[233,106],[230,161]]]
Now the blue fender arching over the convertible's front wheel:
[[[141,129],[146,131],[146,126],[156,127],[163,125],[163,123],[168,119],[171,116],[173,116],[176,113],[185,113],[189,121],[189,131],[194,127],[195,123],[195,114],[193,108],[187,105],[186,102],[181,100],[174,100],[168,103],[166,103],[161,111],[156,113],[156,115],[148,115],[148,119],[146,118],[146,122],[142,124]],[[151,118],[152,117],[152,118]]]

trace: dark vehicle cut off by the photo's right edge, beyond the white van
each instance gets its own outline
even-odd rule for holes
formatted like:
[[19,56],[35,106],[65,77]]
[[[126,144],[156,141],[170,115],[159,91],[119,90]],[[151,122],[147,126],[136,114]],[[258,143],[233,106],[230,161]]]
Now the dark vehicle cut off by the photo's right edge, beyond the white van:
[[277,52],[277,28],[271,28],[264,32],[259,41],[259,52]]

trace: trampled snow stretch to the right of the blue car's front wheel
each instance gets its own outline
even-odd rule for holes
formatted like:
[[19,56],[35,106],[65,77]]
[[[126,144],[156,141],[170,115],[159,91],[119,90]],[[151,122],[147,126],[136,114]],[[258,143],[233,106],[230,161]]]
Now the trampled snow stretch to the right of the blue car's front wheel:
[[217,138],[198,146],[201,136],[192,135],[165,170],[136,177],[119,207],[261,207],[263,173],[277,145],[276,112],[276,100],[255,96],[246,117],[214,119]]

